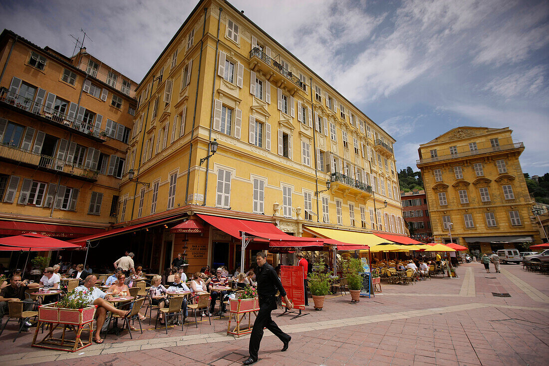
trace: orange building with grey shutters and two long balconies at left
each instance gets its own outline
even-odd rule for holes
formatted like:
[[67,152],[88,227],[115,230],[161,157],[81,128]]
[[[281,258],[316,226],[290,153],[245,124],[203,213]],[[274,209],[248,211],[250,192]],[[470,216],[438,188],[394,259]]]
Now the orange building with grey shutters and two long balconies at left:
[[0,236],[107,229],[137,83],[85,48],[70,58],[9,30],[0,35],[0,65]]

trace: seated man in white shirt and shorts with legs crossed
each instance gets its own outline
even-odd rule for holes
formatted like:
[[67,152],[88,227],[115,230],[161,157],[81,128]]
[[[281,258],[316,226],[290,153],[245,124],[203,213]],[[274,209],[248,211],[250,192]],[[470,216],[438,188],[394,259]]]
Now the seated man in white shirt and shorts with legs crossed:
[[83,295],[88,298],[88,304],[97,305],[96,337],[93,341],[96,343],[103,343],[103,339],[101,338],[101,328],[103,328],[105,318],[107,318],[107,312],[118,314],[121,317],[126,318],[130,315],[132,310],[121,310],[115,308],[113,304],[107,301],[111,298],[111,295],[107,295],[107,293],[104,293],[95,287],[96,282],[97,277],[94,275],[89,275],[86,277],[83,285],[76,287],[75,292],[83,293]]

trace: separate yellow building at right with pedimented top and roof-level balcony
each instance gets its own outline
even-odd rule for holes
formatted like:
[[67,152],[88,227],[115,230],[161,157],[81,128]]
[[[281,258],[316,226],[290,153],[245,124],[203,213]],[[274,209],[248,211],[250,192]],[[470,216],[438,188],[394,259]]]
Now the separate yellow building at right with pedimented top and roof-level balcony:
[[[457,127],[419,145],[435,241],[467,246],[476,254],[539,242],[530,220],[533,202],[520,168],[522,142],[511,130]],[[449,232],[450,229],[450,232]]]

